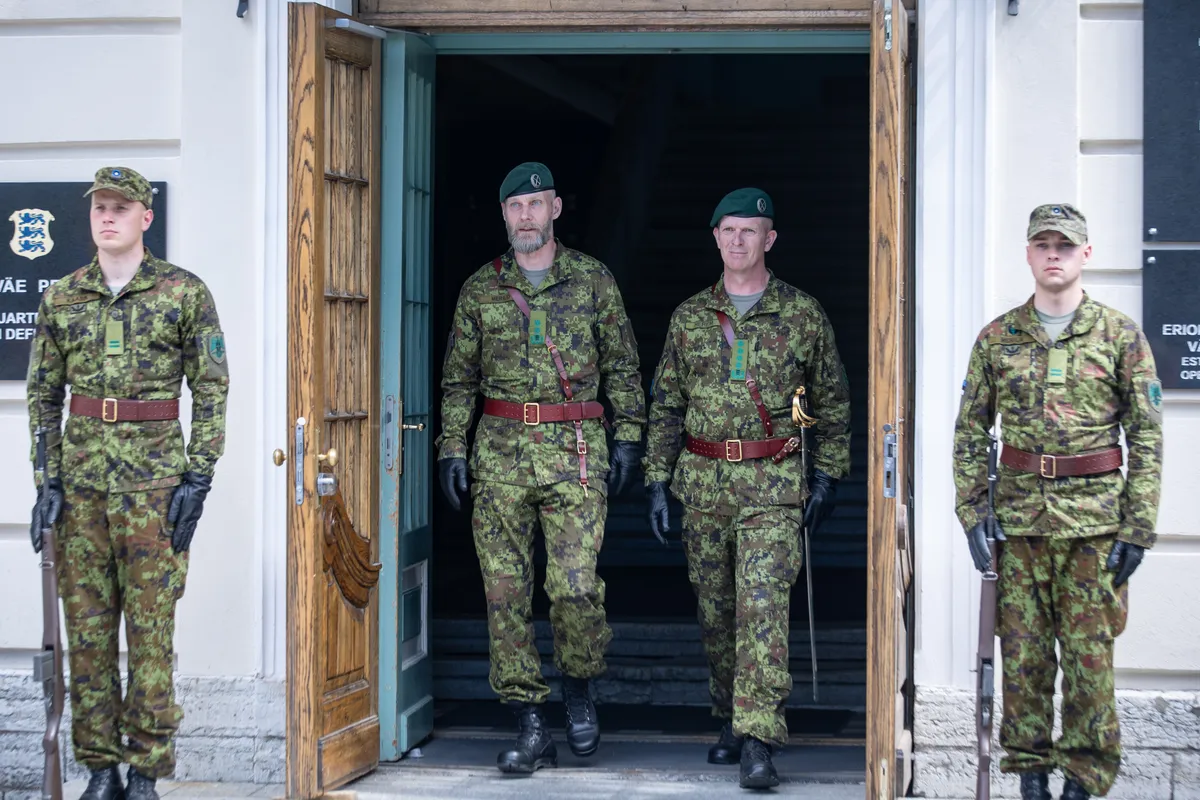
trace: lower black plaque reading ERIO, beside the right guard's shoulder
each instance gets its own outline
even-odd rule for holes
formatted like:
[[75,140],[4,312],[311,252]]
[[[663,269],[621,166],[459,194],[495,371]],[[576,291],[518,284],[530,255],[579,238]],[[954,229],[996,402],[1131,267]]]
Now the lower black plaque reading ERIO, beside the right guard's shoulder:
[[1146,251],[1141,326],[1165,389],[1200,389],[1200,251]]

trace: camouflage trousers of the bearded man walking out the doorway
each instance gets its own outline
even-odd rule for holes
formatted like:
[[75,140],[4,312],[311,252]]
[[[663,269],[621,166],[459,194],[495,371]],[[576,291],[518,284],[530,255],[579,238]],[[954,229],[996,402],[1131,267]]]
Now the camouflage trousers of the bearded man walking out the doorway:
[[572,678],[604,673],[612,640],[605,619],[604,581],[596,557],[604,542],[608,500],[604,481],[524,487],[491,481],[472,486],[472,529],[487,596],[492,690],[503,700],[545,703],[533,630],[533,545],[540,524],[546,540],[546,595],[554,631],[554,666]]

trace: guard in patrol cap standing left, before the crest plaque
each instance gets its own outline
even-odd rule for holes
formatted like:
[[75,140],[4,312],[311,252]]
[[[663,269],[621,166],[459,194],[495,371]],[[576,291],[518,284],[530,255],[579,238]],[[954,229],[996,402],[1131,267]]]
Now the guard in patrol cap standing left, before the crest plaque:
[[[149,182],[106,167],[88,191],[97,254],[42,297],[26,384],[31,427],[47,435],[47,474],[34,510],[34,549],[55,524],[59,589],[71,660],[76,759],[92,772],[84,798],[156,798],[174,772],[175,603],[187,551],[224,449],[229,369],[204,282],[144,248]],[[186,451],[179,423],[192,392]],[[62,432],[66,389],[71,409]],[[121,698],[119,626],[128,688]]]

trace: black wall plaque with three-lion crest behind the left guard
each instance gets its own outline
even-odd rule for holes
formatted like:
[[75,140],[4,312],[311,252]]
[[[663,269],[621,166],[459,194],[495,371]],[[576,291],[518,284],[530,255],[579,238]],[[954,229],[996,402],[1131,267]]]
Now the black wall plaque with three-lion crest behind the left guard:
[[[91,207],[80,184],[0,184],[0,222],[7,242],[0,246],[0,380],[25,380],[37,307],[47,287],[88,264]],[[154,224],[145,245],[167,258],[167,184],[151,181]]]

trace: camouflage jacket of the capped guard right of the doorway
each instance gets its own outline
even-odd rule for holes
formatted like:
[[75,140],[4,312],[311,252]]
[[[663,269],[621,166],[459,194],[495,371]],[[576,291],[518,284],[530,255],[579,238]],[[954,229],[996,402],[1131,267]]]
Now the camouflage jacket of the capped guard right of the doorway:
[[[1051,348],[1067,353],[1063,383],[1048,381]],[[1154,543],[1163,462],[1162,385],[1138,324],[1084,296],[1075,319],[1050,342],[1030,299],[983,329],[971,350],[954,431],[958,515],[973,528],[988,511],[988,429],[1031,453],[1074,456],[1120,445],[1128,477],[1043,479],[1000,465],[996,516],[1006,534],[1103,536]]]

